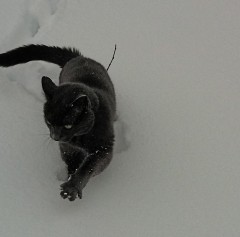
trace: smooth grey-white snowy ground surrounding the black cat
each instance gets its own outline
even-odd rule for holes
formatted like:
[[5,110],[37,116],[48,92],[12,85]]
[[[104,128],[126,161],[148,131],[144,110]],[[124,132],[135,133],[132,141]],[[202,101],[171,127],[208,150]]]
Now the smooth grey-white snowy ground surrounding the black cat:
[[240,2],[8,0],[0,52],[75,46],[117,91],[114,160],[59,196],[35,62],[0,69],[0,236],[240,236]]

